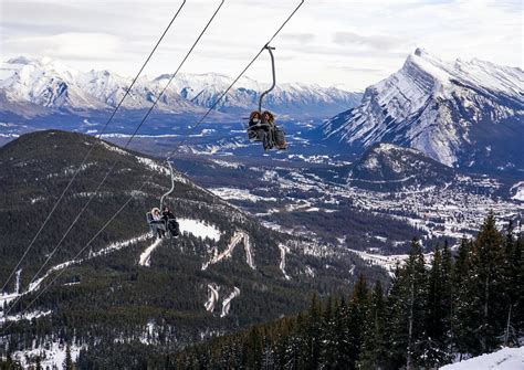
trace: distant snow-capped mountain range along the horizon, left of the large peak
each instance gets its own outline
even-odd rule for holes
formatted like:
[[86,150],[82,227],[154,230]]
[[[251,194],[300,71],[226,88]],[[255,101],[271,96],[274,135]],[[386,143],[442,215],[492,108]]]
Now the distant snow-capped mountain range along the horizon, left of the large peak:
[[[170,75],[142,76],[124,101],[125,109],[148,108]],[[0,68],[0,92],[6,103],[30,103],[50,109],[99,110],[116,106],[132,83],[130,77],[109,71],[80,72],[50,59],[17,57]],[[178,74],[163,95],[158,109],[166,113],[199,114],[209,108],[231,83],[230,76]],[[244,114],[258,106],[259,94],[269,87],[242,77],[219,104],[218,110]],[[264,101],[264,108],[277,114],[324,118],[358,104],[361,94],[335,87],[279,84]],[[9,106],[8,106],[9,107]],[[3,110],[9,110],[6,107]]]

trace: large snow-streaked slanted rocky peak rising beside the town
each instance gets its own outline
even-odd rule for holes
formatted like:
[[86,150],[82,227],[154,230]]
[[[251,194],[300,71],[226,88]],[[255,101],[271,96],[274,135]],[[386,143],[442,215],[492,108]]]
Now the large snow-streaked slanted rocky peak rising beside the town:
[[359,106],[323,126],[327,138],[363,150],[377,142],[416,148],[473,169],[524,168],[524,73],[479,60],[444,62],[417,49]]

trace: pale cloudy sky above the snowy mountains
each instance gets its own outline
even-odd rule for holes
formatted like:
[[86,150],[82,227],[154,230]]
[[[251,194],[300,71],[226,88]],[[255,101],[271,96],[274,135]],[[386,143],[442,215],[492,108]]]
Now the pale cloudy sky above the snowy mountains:
[[[187,0],[146,70],[176,70],[220,0]],[[298,1],[226,0],[182,72],[235,75]],[[181,0],[0,0],[0,55],[134,75]],[[521,0],[306,0],[275,39],[280,82],[364,89],[421,46],[523,67]],[[270,78],[269,56],[248,75]]]

